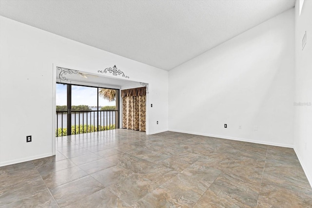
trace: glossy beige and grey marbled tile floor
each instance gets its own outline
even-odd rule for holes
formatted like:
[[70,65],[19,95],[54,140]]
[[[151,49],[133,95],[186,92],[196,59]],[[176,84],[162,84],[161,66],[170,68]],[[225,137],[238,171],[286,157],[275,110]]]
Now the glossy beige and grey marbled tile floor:
[[56,156],[0,167],[0,207],[312,207],[290,148],[122,129],[56,145]]

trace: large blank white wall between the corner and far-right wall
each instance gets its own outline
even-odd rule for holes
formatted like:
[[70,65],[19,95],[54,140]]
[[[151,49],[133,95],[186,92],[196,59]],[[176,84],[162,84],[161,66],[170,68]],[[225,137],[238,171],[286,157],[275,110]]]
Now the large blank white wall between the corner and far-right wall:
[[290,9],[169,71],[169,130],[292,147],[293,76]]

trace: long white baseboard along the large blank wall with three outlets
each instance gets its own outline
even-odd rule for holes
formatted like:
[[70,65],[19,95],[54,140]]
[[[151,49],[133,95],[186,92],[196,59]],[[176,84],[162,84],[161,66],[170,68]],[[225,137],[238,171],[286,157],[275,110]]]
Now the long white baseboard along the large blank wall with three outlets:
[[259,141],[259,140],[251,140],[251,139],[232,137],[232,136],[215,135],[215,134],[209,134],[209,133],[188,132],[188,131],[180,131],[180,130],[174,130],[174,129],[169,129],[168,131],[180,132],[180,133],[190,133],[190,134],[195,134],[195,135],[200,135],[200,136],[210,136],[210,137],[216,137],[216,138],[221,138],[221,139],[230,139],[230,140],[235,140],[235,141],[251,142],[251,143],[256,143],[256,144],[271,145],[271,146],[277,146],[277,147],[293,148],[293,145],[288,145],[288,144],[266,142],[266,141]]

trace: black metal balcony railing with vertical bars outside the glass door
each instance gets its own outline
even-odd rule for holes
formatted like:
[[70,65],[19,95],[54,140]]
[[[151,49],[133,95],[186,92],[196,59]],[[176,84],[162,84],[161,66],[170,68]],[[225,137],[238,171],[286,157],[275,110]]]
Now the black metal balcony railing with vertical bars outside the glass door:
[[[56,136],[68,135],[67,112],[57,111]],[[118,111],[72,111],[71,134],[99,132],[115,129],[118,122]]]

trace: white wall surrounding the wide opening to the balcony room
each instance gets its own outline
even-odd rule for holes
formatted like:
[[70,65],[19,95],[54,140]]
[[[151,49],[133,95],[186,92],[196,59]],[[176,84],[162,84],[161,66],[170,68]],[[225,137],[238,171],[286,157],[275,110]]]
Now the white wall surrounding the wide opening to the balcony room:
[[149,83],[149,133],[168,129],[167,71],[4,17],[0,60],[0,166],[52,155],[53,64],[96,74],[116,64],[129,80]]

